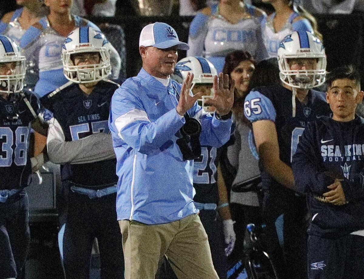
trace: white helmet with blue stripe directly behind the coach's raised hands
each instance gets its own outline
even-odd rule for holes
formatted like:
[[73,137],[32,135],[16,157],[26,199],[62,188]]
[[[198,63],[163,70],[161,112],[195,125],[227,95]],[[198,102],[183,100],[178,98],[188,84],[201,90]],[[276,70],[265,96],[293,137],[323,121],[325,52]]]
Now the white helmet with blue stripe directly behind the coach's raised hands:
[[193,73],[194,75],[191,90],[196,84],[211,84],[210,94],[204,95],[201,99],[197,100],[202,102],[202,106],[205,107],[205,100],[214,97],[213,83],[217,70],[206,58],[189,56],[179,60],[174,68],[174,74],[182,78],[182,80],[185,80],[187,73]]

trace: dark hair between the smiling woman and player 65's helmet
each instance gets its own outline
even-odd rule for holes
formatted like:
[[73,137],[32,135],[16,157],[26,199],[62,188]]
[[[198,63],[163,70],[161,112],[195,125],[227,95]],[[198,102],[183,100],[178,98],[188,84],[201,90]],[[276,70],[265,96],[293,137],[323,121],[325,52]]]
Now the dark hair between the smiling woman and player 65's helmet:
[[269,58],[260,61],[256,66],[254,73],[249,81],[249,89],[252,90],[258,86],[269,86],[280,84],[279,67],[277,58]]

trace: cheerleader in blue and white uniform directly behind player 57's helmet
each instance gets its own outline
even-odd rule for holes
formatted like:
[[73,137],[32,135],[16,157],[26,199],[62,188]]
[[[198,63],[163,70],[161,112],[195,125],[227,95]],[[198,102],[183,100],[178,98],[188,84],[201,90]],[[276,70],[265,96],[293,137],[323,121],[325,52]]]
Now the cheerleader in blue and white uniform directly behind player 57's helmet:
[[[39,80],[33,81],[37,97],[42,97],[68,82],[63,75],[61,60],[63,41],[67,35],[75,28],[86,25],[100,30],[91,21],[71,15],[72,0],[44,0],[44,4],[50,9],[49,15],[29,27],[20,40],[20,47],[27,60],[39,68]],[[120,57],[114,47],[111,46],[110,50],[113,77],[118,77]]]

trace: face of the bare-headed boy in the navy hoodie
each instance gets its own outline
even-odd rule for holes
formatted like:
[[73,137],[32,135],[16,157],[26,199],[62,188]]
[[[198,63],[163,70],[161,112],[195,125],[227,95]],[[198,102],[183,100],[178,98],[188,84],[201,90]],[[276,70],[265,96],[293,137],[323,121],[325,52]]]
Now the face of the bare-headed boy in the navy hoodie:
[[333,120],[351,121],[355,117],[357,104],[363,100],[363,91],[354,80],[348,78],[332,82],[326,92],[326,101],[333,113]]

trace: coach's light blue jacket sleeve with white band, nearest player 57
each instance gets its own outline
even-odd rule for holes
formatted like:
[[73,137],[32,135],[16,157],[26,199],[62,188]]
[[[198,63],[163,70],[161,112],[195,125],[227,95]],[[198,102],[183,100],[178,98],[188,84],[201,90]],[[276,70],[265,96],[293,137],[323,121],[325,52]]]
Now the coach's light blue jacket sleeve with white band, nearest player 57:
[[112,96],[109,128],[114,147],[120,140],[143,154],[154,153],[183,126],[185,119],[175,108],[151,122],[139,98],[140,89],[124,82]]

